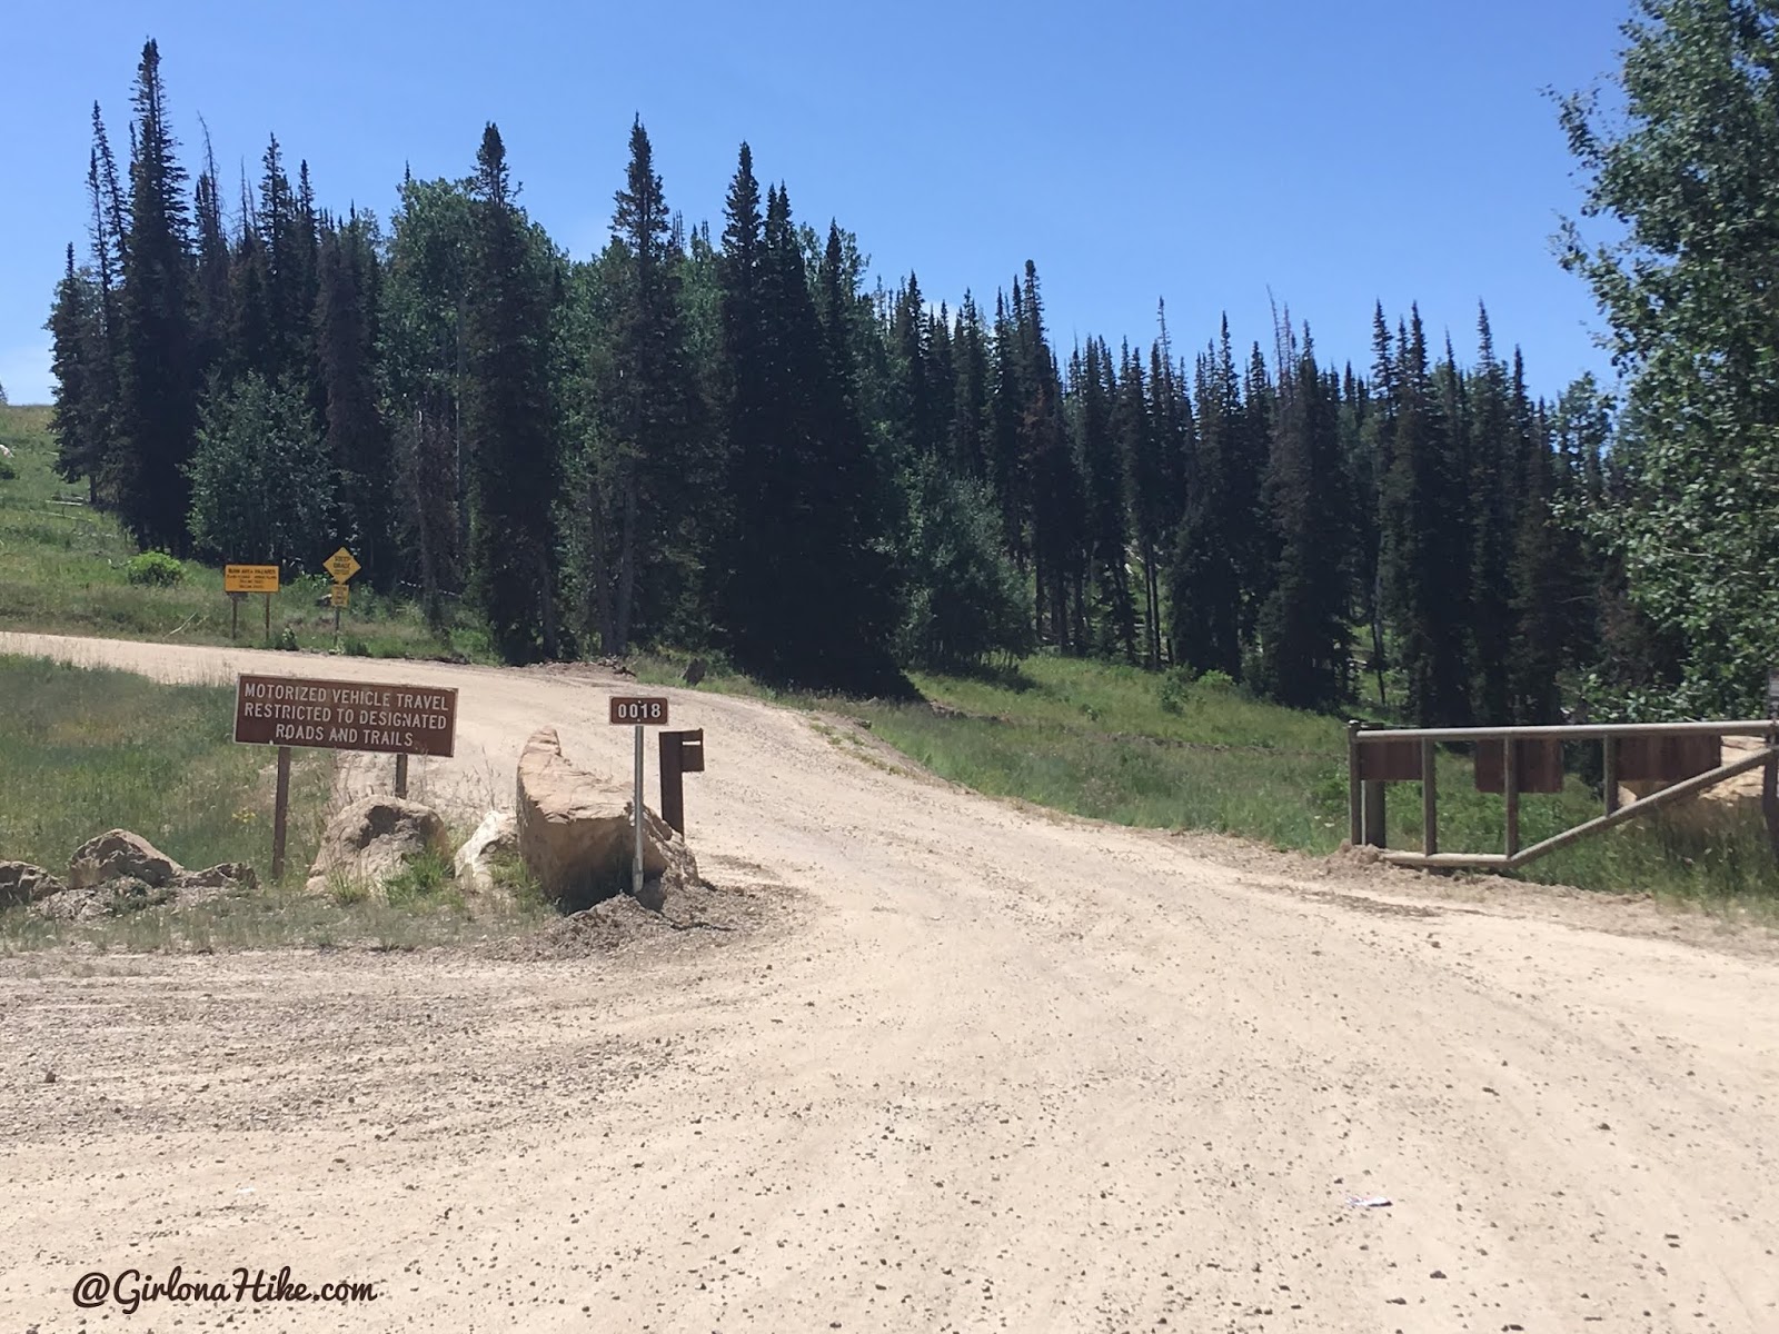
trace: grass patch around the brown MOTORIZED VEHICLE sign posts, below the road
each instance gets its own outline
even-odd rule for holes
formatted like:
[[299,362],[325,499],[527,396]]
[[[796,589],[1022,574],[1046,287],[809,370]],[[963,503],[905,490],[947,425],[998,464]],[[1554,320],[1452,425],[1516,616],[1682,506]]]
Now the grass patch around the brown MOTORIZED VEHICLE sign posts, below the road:
[[390,880],[386,898],[347,884],[304,895],[333,786],[327,751],[295,751],[286,870],[269,882],[274,752],[231,740],[235,694],[226,685],[157,685],[128,672],[0,656],[0,859],[62,875],[80,843],[130,829],[187,868],[237,861],[262,880],[247,895],[85,923],[0,909],[0,953],[50,944],[409,948],[477,939],[541,916],[523,895],[516,905],[471,912],[438,859]]

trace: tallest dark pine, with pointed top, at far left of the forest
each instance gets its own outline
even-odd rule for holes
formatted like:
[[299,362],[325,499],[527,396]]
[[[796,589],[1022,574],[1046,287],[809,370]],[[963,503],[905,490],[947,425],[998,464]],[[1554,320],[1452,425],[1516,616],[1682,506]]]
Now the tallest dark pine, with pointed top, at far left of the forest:
[[190,299],[190,217],[174,158],[160,50],[142,46],[135,84],[130,215],[119,302],[119,514],[146,548],[190,550],[185,462],[197,430],[199,366]]

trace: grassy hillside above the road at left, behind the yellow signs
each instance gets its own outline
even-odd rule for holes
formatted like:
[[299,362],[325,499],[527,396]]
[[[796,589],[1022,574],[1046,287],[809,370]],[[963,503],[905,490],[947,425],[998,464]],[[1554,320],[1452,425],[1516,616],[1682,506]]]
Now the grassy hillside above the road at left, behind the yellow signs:
[[[135,544],[117,521],[93,512],[85,489],[55,475],[48,407],[0,407],[0,630],[55,635],[149,639],[171,644],[228,644],[231,603],[221,566],[183,562],[185,576],[171,587],[130,583],[125,566]],[[5,473],[14,473],[5,477]],[[283,580],[272,594],[272,642],[331,651],[333,612],[317,603],[331,580],[317,569]],[[244,647],[265,647],[265,598],[240,603]],[[349,653],[375,658],[486,660],[486,637],[455,628],[450,642],[427,628],[407,601],[384,598],[352,582],[352,605],[342,617]]]

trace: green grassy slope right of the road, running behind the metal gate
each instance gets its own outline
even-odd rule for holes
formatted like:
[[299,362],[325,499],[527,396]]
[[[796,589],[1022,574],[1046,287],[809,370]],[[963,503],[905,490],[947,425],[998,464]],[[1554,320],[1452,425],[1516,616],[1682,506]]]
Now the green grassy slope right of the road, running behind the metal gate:
[[[642,679],[680,679],[683,656],[637,663]],[[1347,838],[1347,735],[1338,719],[1258,703],[1240,688],[1183,683],[1114,663],[1035,656],[998,678],[916,674],[932,703],[781,697],[865,719],[872,733],[941,777],[996,797],[1151,829],[1204,829],[1281,848],[1334,852]],[[713,674],[704,688],[769,695]],[[836,742],[843,743],[836,733]],[[1389,845],[1421,847],[1421,788],[1389,786]],[[1521,799],[1521,841],[1599,815],[1576,777]],[[1439,759],[1439,847],[1500,852],[1498,795],[1475,790],[1466,754]],[[1715,905],[1779,909],[1779,868],[1758,816],[1703,832],[1631,822],[1551,854],[1517,879]]]

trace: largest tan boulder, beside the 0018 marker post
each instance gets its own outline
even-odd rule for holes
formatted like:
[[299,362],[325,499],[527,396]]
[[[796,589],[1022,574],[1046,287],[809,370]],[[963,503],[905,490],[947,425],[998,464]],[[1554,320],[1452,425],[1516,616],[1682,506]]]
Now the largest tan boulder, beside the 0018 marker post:
[[[555,727],[532,733],[519,754],[519,856],[541,889],[568,911],[630,891],[635,825],[630,788],[576,768],[562,756]],[[640,902],[660,907],[664,879],[697,882],[685,840],[642,811]]]

